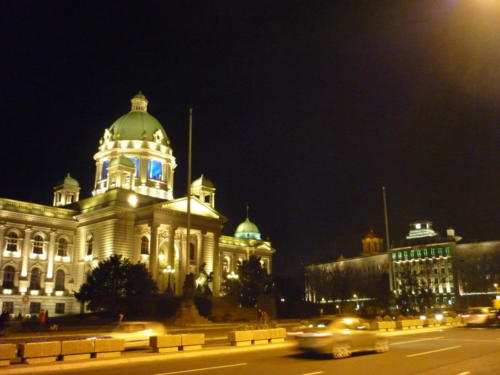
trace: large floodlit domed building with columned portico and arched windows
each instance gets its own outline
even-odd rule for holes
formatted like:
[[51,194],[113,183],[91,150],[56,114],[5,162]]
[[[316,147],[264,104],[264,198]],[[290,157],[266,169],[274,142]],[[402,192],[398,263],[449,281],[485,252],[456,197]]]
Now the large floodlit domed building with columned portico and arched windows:
[[173,196],[177,164],[170,140],[144,95],[131,104],[100,140],[92,197],[80,199],[80,185],[68,174],[54,187],[53,207],[0,198],[3,311],[78,312],[73,293],[87,271],[113,254],[145,263],[159,290],[170,284],[176,294],[202,265],[213,272],[215,295],[221,278],[250,255],[261,257],[271,273],[275,250],[258,229],[253,237],[222,235],[227,219],[216,211],[215,186],[204,176],[191,185],[187,239],[187,197]]

